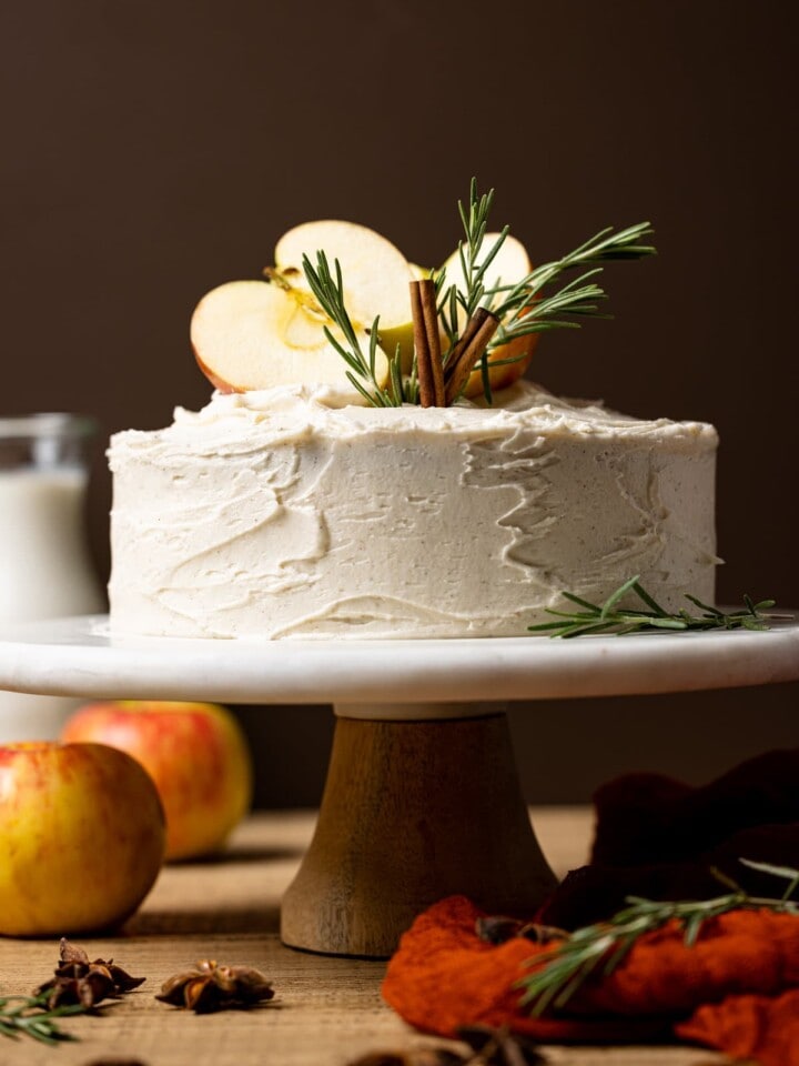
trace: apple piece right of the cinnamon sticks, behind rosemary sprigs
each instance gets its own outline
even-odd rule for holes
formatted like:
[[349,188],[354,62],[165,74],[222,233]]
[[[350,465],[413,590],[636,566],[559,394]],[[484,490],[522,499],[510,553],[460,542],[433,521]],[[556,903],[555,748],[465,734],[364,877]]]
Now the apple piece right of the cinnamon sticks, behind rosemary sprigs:
[[[485,261],[485,257],[489,254],[498,237],[498,233],[486,233],[481,249],[483,252],[482,259],[479,260],[481,262]],[[466,279],[457,251],[453,252],[442,269],[446,272],[444,280],[445,289],[455,284],[462,292],[466,291]],[[524,244],[517,241],[515,237],[508,234],[488,265],[484,284],[486,289],[490,289],[499,282],[503,284],[515,284],[526,276],[530,270],[529,257]],[[462,328],[464,322],[461,322]],[[520,378],[529,365],[530,359],[533,358],[533,350],[537,343],[538,334],[528,333],[526,336],[518,336],[513,341],[508,341],[507,344],[500,344],[498,348],[493,349],[488,354],[488,378],[492,389],[507,389],[508,385],[512,385]],[[503,366],[490,366],[490,363],[506,359],[514,359],[515,362],[505,363]],[[482,392],[483,375],[478,365],[472,372],[466,388],[463,391],[463,395],[468,398],[478,396]]]

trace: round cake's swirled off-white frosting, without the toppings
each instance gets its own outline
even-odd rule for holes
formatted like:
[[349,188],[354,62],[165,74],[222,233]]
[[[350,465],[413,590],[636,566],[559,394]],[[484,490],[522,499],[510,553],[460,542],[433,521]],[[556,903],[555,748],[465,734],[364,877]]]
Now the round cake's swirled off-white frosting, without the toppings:
[[568,403],[215,394],[112,438],[113,632],[508,636],[633,574],[712,600],[716,432]]

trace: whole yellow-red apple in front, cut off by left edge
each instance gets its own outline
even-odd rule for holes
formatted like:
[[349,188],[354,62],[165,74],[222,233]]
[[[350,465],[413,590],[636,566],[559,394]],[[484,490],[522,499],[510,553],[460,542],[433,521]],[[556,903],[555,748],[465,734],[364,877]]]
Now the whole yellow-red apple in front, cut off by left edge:
[[164,817],[124,752],[52,741],[0,747],[0,934],[121,925],[163,863]]

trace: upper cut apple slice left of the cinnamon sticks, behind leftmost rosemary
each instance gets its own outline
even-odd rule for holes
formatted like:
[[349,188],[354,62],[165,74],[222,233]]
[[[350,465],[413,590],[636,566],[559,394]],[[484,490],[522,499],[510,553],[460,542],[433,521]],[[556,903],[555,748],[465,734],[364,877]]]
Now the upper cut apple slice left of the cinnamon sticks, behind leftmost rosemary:
[[275,265],[291,272],[292,284],[307,290],[303,255],[316,265],[323,251],[333,269],[338,260],[344,280],[344,305],[353,325],[372,328],[380,315],[380,343],[391,358],[400,344],[403,364],[413,356],[413,318],[408,284],[415,274],[403,253],[385,237],[355,222],[326,219],[303,222],[289,230],[275,248]]

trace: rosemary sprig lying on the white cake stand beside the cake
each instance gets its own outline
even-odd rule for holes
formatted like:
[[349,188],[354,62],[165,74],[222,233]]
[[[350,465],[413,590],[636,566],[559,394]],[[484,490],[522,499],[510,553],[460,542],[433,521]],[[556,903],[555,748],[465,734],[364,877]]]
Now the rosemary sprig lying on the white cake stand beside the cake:
[[[540,622],[538,625],[527,626],[530,633],[549,631],[550,636],[573,637],[584,636],[586,633],[613,632],[618,636],[629,633],[653,633],[663,631],[701,632],[705,630],[768,630],[769,622],[787,620],[789,615],[763,614],[775,606],[775,600],[760,600],[755,603],[750,596],[744,596],[744,609],[725,613],[712,607],[696,596],[686,594],[695,606],[702,612],[700,615],[690,614],[681,609],[669,612],[661,606],[639,584],[640,575],[630,577],[611,593],[603,604],[590,603],[570,592],[563,596],[569,600],[580,611],[556,611],[547,607],[546,613],[555,615],[558,621]],[[635,593],[648,610],[633,610],[619,607],[619,602],[628,594]]]

